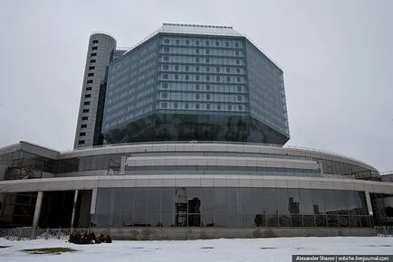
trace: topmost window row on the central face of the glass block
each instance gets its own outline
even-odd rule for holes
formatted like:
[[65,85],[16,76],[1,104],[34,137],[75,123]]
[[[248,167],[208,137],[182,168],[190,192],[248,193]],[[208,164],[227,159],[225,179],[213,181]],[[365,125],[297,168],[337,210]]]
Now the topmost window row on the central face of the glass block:
[[215,40],[215,39],[195,39],[195,38],[164,38],[164,44],[172,45],[191,45],[191,46],[214,46],[225,48],[239,48],[242,47],[242,42],[229,40]]

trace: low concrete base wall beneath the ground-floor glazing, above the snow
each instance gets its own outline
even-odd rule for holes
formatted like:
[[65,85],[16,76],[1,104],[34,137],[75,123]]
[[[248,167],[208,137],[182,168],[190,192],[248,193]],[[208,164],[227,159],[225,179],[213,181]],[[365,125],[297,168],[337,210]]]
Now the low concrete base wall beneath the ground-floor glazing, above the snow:
[[164,239],[254,239],[278,237],[371,237],[375,229],[343,228],[91,228],[97,235],[109,234],[112,239],[164,240]]

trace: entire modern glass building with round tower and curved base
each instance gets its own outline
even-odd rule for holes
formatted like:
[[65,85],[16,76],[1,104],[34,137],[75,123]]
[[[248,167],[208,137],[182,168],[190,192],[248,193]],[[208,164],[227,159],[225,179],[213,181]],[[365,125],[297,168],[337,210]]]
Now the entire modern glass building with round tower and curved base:
[[233,28],[164,23],[129,51],[94,33],[74,150],[0,148],[0,227],[210,239],[393,225],[388,176],[289,137],[283,70]]

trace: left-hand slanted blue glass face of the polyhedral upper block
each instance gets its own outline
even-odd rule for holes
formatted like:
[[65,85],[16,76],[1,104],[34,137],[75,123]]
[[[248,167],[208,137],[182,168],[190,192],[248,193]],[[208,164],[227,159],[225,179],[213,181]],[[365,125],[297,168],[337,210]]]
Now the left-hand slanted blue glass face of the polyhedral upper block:
[[110,64],[102,133],[153,110],[158,39],[153,38]]

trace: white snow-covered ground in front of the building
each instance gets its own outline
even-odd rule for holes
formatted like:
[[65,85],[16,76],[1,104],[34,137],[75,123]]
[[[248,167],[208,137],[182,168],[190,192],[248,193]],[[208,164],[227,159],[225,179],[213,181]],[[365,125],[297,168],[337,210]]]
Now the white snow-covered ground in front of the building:
[[[187,241],[114,241],[73,245],[65,240],[0,239],[0,261],[292,261],[294,254],[393,254],[393,238],[279,238]],[[75,253],[31,255],[24,248],[75,248]]]

